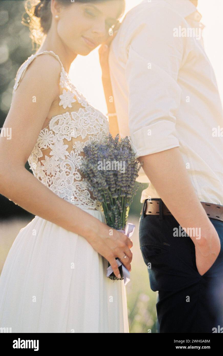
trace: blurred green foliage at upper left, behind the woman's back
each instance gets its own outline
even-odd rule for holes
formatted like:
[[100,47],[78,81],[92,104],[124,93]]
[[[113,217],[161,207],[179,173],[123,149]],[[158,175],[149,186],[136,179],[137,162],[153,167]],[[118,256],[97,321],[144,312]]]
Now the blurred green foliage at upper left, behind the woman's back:
[[16,72],[32,54],[30,31],[21,24],[24,14],[24,1],[0,1],[0,127],[10,109]]

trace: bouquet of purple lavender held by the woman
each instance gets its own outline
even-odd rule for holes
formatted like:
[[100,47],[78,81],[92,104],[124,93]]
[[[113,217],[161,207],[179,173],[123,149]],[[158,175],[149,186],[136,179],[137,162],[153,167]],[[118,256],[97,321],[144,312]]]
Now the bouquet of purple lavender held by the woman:
[[[128,137],[119,141],[119,135],[113,138],[109,134],[103,143],[91,141],[84,147],[84,153],[80,170],[90,183],[92,194],[102,204],[107,225],[125,230],[129,207],[139,186],[136,178],[141,167]],[[122,265],[119,270],[123,279]],[[113,272],[109,278],[119,279]]]

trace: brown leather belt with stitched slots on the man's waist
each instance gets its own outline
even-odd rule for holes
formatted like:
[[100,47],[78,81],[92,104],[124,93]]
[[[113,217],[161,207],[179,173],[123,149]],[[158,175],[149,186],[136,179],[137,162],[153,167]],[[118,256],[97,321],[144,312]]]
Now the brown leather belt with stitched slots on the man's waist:
[[[205,203],[201,201],[201,205],[205,209],[208,218],[223,221],[223,205]],[[160,198],[146,199],[140,214],[144,215],[172,215]]]

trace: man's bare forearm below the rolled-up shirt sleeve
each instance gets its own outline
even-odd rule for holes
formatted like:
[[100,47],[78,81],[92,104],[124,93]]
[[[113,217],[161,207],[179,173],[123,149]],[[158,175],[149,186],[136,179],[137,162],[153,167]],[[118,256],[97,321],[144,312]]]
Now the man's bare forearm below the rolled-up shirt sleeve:
[[201,228],[201,240],[190,236],[195,244],[216,234],[191,183],[179,147],[138,159],[143,161],[145,174],[178,223],[185,228]]

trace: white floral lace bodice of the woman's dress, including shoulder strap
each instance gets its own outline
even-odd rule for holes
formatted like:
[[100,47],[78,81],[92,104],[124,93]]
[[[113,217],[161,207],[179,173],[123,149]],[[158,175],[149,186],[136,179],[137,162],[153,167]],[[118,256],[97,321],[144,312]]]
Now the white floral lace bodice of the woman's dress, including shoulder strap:
[[91,106],[71,83],[59,57],[52,51],[32,54],[18,69],[14,91],[28,65],[38,55],[52,54],[61,64],[58,115],[54,115],[39,133],[28,163],[34,176],[60,198],[84,209],[102,210],[101,203],[89,190],[79,165],[84,146],[91,140],[103,141],[108,135],[108,121]]

